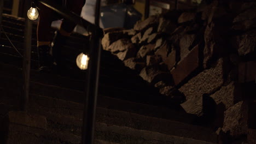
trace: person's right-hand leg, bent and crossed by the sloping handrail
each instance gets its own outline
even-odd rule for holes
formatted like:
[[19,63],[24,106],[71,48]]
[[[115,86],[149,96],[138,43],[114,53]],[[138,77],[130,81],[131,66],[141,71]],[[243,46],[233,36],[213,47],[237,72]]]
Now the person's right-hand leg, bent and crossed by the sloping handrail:
[[[84,0],[67,0],[67,9],[80,16],[84,3]],[[61,47],[65,45],[66,39],[71,35],[71,32],[75,26],[75,23],[64,19],[61,23],[59,31],[55,32],[55,37],[52,43],[55,65],[61,65],[63,61],[61,59]]]

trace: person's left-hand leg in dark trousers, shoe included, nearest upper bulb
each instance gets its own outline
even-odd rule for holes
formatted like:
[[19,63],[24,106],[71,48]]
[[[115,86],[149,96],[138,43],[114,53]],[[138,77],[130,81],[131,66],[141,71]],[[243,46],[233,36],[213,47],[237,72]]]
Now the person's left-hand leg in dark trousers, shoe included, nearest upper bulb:
[[39,7],[39,21],[37,25],[37,47],[39,55],[39,70],[49,70],[52,63],[50,56],[51,41],[51,22],[53,21],[53,11],[45,7],[43,4]]

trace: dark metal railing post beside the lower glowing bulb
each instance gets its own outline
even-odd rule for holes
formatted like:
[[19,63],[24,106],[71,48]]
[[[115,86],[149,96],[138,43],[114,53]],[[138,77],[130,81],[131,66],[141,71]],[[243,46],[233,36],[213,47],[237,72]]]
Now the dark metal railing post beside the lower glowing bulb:
[[[99,27],[100,23],[100,6],[101,1],[96,1],[95,9],[95,25]],[[95,116],[98,96],[98,78],[100,75],[100,59],[101,59],[101,35],[96,31],[92,35],[90,41],[94,46],[90,47],[90,62],[86,82],[86,99],[84,104],[84,118],[82,130],[82,144],[94,143]]]

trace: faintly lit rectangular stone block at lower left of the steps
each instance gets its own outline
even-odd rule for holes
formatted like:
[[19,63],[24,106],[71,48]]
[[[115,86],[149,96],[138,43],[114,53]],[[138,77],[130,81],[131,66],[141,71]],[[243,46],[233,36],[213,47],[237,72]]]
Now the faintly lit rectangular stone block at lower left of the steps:
[[9,122],[27,125],[28,127],[47,129],[45,117],[39,115],[29,115],[28,113],[22,111],[10,111]]

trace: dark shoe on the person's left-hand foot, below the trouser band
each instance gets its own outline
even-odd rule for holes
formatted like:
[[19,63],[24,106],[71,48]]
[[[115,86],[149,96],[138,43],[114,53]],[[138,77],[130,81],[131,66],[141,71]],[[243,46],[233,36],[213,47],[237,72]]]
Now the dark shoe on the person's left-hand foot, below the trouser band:
[[39,53],[39,71],[51,71],[53,65],[53,57],[50,55],[50,46],[42,45],[38,46]]

